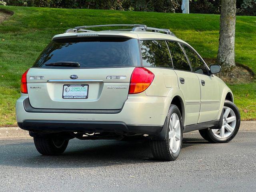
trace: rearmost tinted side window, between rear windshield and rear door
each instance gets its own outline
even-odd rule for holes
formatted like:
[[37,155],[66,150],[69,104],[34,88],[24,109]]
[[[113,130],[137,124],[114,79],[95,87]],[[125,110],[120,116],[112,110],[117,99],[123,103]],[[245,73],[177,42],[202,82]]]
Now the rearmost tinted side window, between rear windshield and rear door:
[[172,68],[170,52],[165,41],[140,41],[143,66]]

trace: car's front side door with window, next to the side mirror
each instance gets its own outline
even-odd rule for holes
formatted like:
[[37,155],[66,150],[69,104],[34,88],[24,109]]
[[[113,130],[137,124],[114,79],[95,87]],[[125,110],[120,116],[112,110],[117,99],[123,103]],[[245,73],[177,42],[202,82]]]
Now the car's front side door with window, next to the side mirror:
[[204,61],[190,47],[182,45],[188,60],[192,66],[192,70],[198,76],[201,88],[201,107],[198,123],[216,120],[220,109],[220,89],[218,82],[214,76],[209,74]]

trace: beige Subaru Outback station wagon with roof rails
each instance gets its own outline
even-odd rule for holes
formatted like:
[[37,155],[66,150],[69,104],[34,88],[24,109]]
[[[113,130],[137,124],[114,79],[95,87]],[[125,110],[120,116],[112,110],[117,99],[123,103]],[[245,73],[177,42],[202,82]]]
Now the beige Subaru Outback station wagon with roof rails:
[[[88,30],[97,27],[115,30]],[[154,158],[175,160],[183,133],[215,143],[237,134],[240,114],[219,72],[167,29],[80,26],[54,36],[22,75],[16,118],[43,155],[62,154],[72,138],[141,136]]]

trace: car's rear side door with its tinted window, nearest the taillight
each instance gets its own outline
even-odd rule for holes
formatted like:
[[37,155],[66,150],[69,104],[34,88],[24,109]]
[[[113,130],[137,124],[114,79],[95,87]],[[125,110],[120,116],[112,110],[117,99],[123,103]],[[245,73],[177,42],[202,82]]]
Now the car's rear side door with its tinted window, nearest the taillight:
[[184,96],[186,104],[185,125],[196,124],[200,112],[200,84],[198,77],[191,71],[186,56],[178,42],[167,42],[174,65],[174,71],[178,76],[179,88]]

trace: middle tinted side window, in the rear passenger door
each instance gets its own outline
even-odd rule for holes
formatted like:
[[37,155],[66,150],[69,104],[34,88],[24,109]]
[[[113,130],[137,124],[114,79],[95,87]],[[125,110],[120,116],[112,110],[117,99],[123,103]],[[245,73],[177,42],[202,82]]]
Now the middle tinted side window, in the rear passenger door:
[[168,41],[174,69],[191,71],[188,60],[177,42]]

